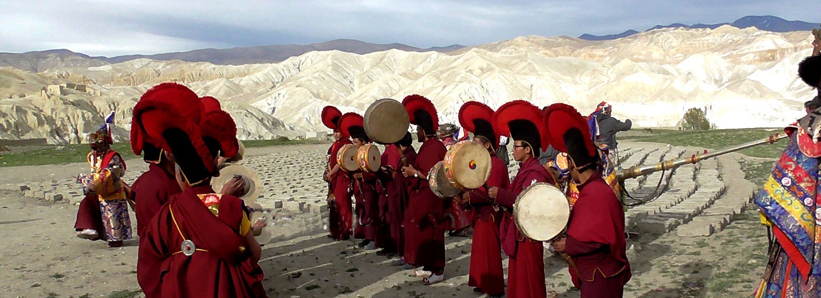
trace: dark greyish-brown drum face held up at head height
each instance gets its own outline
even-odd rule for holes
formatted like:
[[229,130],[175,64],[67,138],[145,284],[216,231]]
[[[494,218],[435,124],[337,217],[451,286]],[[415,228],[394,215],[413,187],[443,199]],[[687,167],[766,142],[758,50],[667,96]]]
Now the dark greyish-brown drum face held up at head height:
[[410,126],[405,106],[391,98],[383,98],[371,104],[365,110],[363,118],[365,133],[374,141],[385,144],[401,140]]

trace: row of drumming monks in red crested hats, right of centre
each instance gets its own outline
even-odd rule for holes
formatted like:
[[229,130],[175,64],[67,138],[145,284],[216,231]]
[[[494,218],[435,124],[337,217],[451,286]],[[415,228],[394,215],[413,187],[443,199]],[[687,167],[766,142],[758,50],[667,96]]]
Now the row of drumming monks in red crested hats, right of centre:
[[[583,297],[621,297],[631,278],[626,258],[624,211],[612,187],[604,181],[603,151],[594,145],[588,118],[566,104],[539,107],[513,101],[493,111],[480,102],[466,102],[459,111],[470,142],[484,146],[491,156],[487,183],[458,196],[441,198],[427,181],[429,172],[459,138],[452,124],[439,127],[433,103],[420,95],[402,100],[410,124],[415,125],[419,151],[412,135],[384,145],[377,171],[345,171],[337,165],[340,149],[373,142],[361,115],[342,114],[333,106],[322,112],[323,124],[333,130],[328,148],[328,237],[337,241],[361,239],[360,247],[396,258],[393,266],[412,269],[430,285],[445,280],[445,235],[464,236],[473,228],[468,285],[497,297],[546,297],[544,242],[525,237],[513,214],[517,197],[534,183],[558,185],[557,171],[539,163],[540,152],[553,147],[569,156],[568,174],[579,196],[567,233],[551,244],[570,255],[573,282]],[[507,163],[497,152],[512,138],[512,156],[519,162],[510,179]],[[507,157],[507,156],[502,156]],[[550,163],[555,165],[555,163]],[[508,256],[507,287],[502,251]]]

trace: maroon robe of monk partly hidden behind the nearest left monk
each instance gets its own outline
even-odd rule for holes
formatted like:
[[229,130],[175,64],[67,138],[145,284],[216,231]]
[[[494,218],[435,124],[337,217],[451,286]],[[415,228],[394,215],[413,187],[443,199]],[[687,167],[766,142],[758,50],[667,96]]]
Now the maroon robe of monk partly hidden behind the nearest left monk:
[[145,227],[165,205],[168,197],[181,192],[177,178],[167,174],[156,164],[149,164],[149,170],[140,175],[131,185],[131,199],[135,202],[134,212],[137,215],[137,235],[143,241]]

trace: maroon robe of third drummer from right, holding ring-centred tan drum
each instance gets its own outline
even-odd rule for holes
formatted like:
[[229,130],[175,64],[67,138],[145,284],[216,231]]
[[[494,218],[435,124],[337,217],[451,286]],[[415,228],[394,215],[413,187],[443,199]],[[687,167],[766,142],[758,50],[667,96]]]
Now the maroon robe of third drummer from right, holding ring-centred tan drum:
[[[510,177],[505,162],[492,155],[490,157],[490,177],[488,187],[507,188]],[[473,208],[473,243],[470,245],[470,277],[467,285],[479,287],[490,296],[505,293],[505,276],[502,269],[502,248],[499,242],[499,223],[502,210],[496,210],[487,188],[481,187],[468,192]]]

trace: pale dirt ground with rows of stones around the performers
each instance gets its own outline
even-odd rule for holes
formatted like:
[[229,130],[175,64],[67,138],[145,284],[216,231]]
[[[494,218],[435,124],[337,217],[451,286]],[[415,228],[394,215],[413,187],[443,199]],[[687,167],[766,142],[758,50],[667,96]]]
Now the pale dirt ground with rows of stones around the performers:
[[[655,136],[639,134],[633,137],[647,141]],[[721,147],[746,141],[727,139]],[[268,296],[480,297],[467,286],[470,238],[446,238],[446,280],[424,286],[421,278],[410,277],[412,270],[391,267],[390,260],[375,251],[325,237],[320,174],[327,147],[250,148],[243,161],[264,181],[259,203],[278,210],[280,218],[292,218],[277,222],[276,238],[264,246],[260,264]],[[649,142],[623,141],[620,147],[625,167],[698,151]],[[783,144],[773,147],[780,152]],[[764,273],[767,237],[749,202],[775,157],[730,154],[628,180],[633,196],[653,192],[659,178],[667,189],[657,200],[627,210],[628,231],[639,236],[627,242],[634,277],[625,296],[750,296]],[[126,181],[134,181],[146,168],[141,160],[126,163]],[[516,166],[510,170],[515,173]],[[103,242],[74,236],[73,203],[79,200],[80,186],[71,175],[82,171],[87,171],[85,163],[0,168],[0,238],[5,243],[0,246],[0,296],[141,296],[136,240],[109,249]],[[135,224],[133,213],[131,219]],[[504,263],[507,269],[507,260]],[[579,296],[562,258],[546,253],[545,264],[548,291]]]

